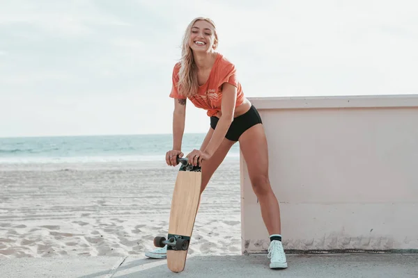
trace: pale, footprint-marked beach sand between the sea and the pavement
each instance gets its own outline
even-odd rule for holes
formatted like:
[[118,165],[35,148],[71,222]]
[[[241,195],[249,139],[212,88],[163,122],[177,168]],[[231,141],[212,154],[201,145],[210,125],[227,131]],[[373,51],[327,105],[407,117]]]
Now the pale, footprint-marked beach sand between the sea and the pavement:
[[[153,238],[167,236],[177,171],[160,162],[0,164],[0,259],[153,250]],[[241,254],[240,231],[233,158],[202,195],[189,255]]]

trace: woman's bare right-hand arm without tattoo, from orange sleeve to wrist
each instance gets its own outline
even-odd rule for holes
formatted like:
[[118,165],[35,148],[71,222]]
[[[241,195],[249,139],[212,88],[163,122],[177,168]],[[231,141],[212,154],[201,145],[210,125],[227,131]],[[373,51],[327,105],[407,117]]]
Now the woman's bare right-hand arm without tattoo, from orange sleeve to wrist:
[[222,140],[224,140],[226,132],[228,131],[229,126],[231,126],[233,121],[236,99],[237,88],[229,83],[224,83],[224,85],[222,85],[222,115],[219,117],[219,121],[215,131],[212,134],[212,138],[210,138],[208,145],[203,151],[206,152],[206,154],[212,156],[219,145],[221,145]]

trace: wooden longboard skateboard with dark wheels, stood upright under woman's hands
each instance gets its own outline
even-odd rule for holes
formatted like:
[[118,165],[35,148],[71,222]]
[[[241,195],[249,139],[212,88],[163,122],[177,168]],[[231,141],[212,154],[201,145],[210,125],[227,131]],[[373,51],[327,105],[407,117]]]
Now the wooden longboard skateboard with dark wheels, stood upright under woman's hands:
[[201,167],[190,165],[187,158],[177,158],[181,164],[171,199],[169,233],[154,238],[155,247],[167,245],[167,266],[173,272],[185,268],[187,251],[194,227],[201,190]]

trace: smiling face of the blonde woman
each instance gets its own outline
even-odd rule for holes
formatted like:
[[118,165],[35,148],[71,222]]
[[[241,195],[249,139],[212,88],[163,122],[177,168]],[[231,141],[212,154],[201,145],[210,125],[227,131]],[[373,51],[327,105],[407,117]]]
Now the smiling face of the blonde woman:
[[196,21],[190,30],[190,48],[193,51],[210,52],[217,47],[215,27],[206,20]]

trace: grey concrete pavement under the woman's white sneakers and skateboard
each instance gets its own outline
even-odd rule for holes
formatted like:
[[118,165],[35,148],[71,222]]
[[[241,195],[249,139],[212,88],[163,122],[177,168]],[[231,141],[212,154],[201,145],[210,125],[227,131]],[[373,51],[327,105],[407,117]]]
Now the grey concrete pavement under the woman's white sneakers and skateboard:
[[189,256],[183,272],[173,273],[165,259],[145,256],[96,256],[1,259],[1,278],[134,277],[415,277],[418,254],[288,254],[288,268],[270,270],[267,254]]

